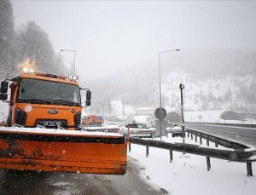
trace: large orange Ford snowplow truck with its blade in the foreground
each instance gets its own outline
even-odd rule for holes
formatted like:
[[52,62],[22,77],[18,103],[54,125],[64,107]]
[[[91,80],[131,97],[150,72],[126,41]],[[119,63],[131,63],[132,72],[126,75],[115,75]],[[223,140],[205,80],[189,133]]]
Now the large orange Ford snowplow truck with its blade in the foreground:
[[9,103],[9,116],[7,127],[0,127],[0,169],[125,174],[123,135],[79,129],[91,92],[84,89],[82,106],[76,78],[23,69],[1,83],[0,100]]

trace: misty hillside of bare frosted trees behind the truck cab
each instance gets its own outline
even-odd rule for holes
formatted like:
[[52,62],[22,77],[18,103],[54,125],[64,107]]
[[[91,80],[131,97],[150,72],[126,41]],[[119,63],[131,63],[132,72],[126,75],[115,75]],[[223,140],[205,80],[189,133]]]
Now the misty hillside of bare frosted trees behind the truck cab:
[[10,0],[0,1],[0,77],[17,74],[26,63],[36,71],[67,74],[61,54],[55,54],[48,34],[35,21],[15,28]]

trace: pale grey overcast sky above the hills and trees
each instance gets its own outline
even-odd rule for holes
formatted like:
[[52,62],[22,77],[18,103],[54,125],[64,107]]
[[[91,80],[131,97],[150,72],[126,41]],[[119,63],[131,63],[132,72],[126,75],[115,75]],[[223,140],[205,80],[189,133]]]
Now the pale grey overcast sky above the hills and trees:
[[[157,66],[166,49],[255,49],[253,1],[13,1],[15,25],[34,20],[56,52],[77,50],[82,77]],[[180,52],[182,54],[182,51]],[[72,53],[63,54],[66,66]]]

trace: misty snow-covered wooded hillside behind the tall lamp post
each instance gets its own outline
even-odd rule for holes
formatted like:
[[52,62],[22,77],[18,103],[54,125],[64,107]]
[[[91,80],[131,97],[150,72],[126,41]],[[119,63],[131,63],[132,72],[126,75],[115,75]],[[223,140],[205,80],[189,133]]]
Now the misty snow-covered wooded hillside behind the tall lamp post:
[[[256,50],[197,49],[162,55],[162,98],[169,111],[178,109],[179,83],[185,84],[188,110],[255,112]],[[123,96],[127,112],[144,106],[156,108],[159,64],[157,60],[148,60],[140,66],[84,82],[84,86],[93,93],[92,106],[86,112],[118,115],[121,106],[116,104],[122,104]]]

